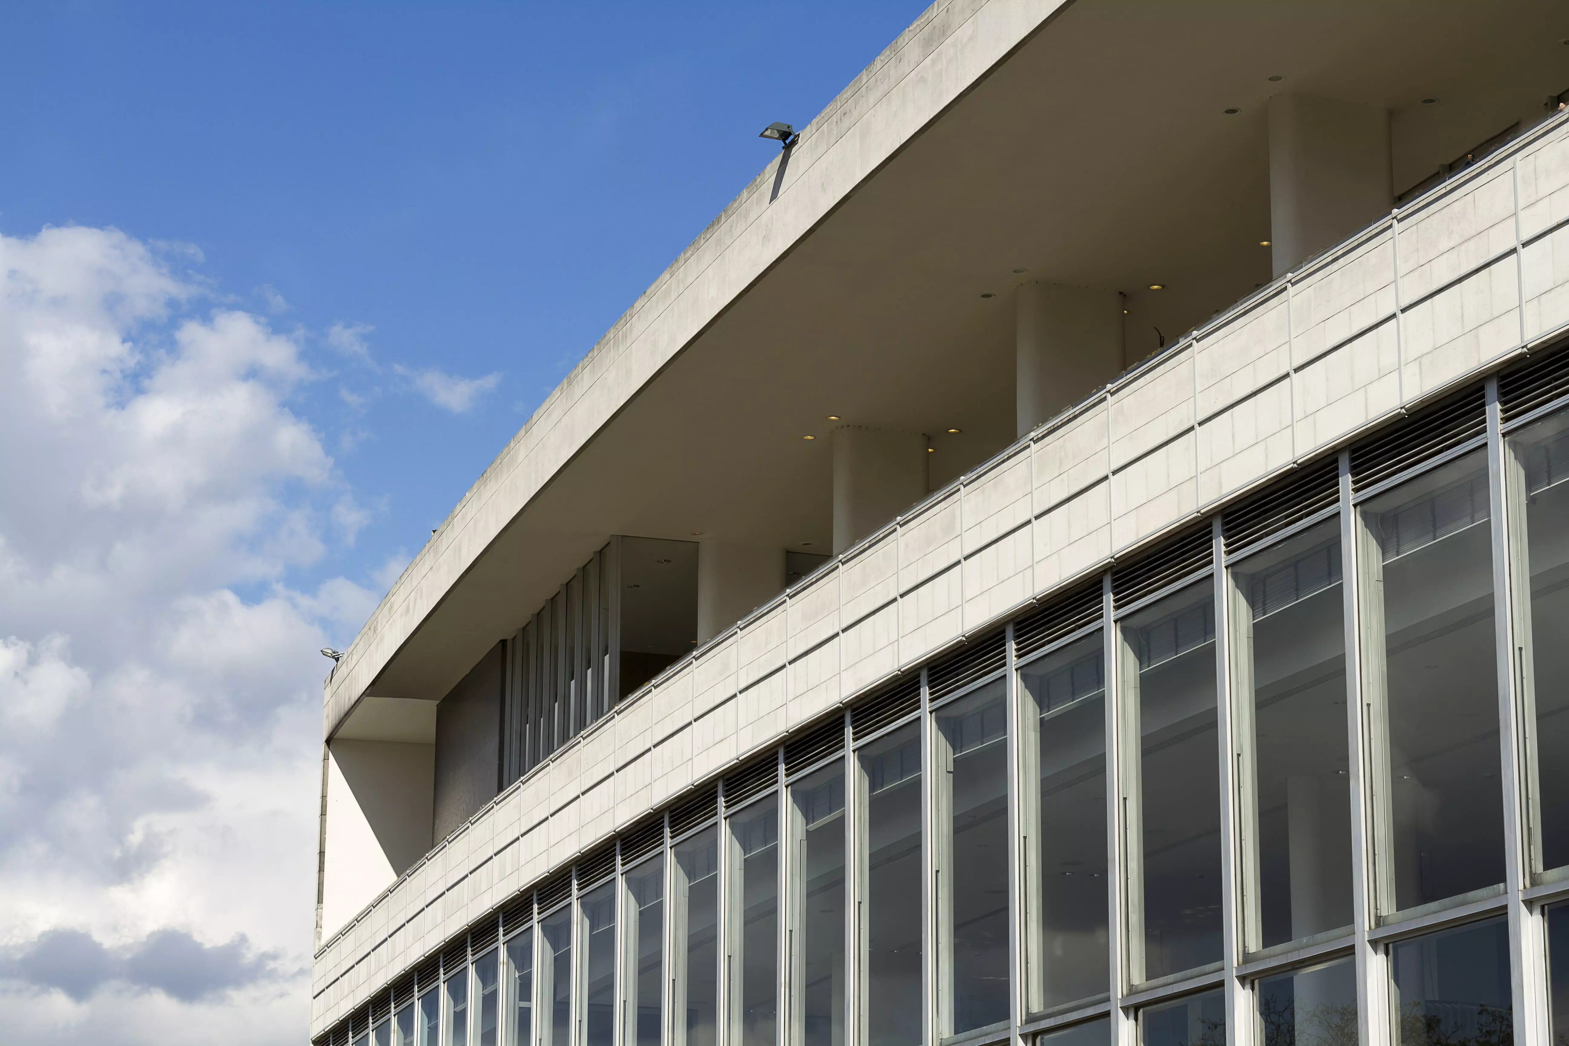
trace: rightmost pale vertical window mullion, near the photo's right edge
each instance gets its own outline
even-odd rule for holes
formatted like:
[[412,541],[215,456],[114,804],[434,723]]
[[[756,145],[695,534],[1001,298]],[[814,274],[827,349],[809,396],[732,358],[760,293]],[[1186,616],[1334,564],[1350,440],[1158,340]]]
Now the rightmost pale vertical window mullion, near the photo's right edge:
[[[1519,263],[1516,254],[1516,263]],[[1523,312],[1525,303],[1520,303]],[[1531,884],[1531,866],[1528,839],[1528,819],[1522,797],[1528,794],[1527,768],[1530,762],[1522,759],[1523,723],[1534,723],[1522,714],[1525,701],[1523,687],[1517,665],[1522,663],[1519,651],[1522,645],[1516,641],[1517,621],[1528,616],[1520,607],[1516,588],[1530,591],[1530,579],[1520,577],[1520,585],[1514,583],[1509,563],[1525,558],[1523,533],[1516,538],[1517,530],[1523,530],[1516,521],[1523,521],[1523,502],[1513,502],[1509,488],[1523,494],[1523,483],[1509,483],[1511,455],[1505,450],[1502,417],[1498,408],[1498,376],[1487,378],[1487,494],[1492,518],[1492,585],[1494,585],[1494,627],[1497,629],[1495,649],[1498,652],[1498,743],[1500,764],[1498,778],[1503,784],[1503,869],[1505,897],[1509,913],[1509,939],[1514,944],[1514,961],[1509,963],[1509,993],[1514,1004],[1516,1035],[1522,1046],[1547,1046],[1552,1041],[1547,1018],[1547,935],[1544,913],[1541,906],[1533,908],[1520,897],[1520,891]],[[1511,555],[1511,547],[1513,555]]]

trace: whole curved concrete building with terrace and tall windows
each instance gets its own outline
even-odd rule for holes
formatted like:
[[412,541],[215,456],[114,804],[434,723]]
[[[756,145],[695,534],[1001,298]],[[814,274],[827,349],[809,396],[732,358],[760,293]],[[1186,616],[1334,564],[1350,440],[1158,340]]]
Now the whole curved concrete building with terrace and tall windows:
[[934,5],[326,681],[314,1041],[1569,1033],[1566,88]]

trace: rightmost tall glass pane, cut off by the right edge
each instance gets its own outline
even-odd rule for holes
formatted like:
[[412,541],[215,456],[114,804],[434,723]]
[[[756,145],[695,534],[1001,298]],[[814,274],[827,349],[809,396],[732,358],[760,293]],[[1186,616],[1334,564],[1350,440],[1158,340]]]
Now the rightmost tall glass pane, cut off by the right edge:
[[1569,412],[1527,428],[1511,452],[1511,486],[1525,499],[1525,547],[1514,555],[1523,560],[1516,572],[1530,602],[1516,627],[1527,651],[1519,671],[1536,709],[1533,856],[1542,870],[1569,864],[1569,645],[1558,641],[1569,635]]

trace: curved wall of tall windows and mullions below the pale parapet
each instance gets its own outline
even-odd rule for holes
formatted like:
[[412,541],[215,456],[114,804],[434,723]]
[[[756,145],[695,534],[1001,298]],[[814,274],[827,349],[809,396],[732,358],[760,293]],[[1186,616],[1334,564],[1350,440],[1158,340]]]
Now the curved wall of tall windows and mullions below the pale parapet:
[[753,756],[317,1041],[1547,1046],[1566,478],[1538,353]]

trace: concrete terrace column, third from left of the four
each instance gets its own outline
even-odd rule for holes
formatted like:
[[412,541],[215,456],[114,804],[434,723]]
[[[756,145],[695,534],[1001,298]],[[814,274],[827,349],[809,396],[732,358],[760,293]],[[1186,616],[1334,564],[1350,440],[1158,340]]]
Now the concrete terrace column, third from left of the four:
[[1023,436],[1122,373],[1122,296],[1031,282],[1014,307],[1014,417]]

